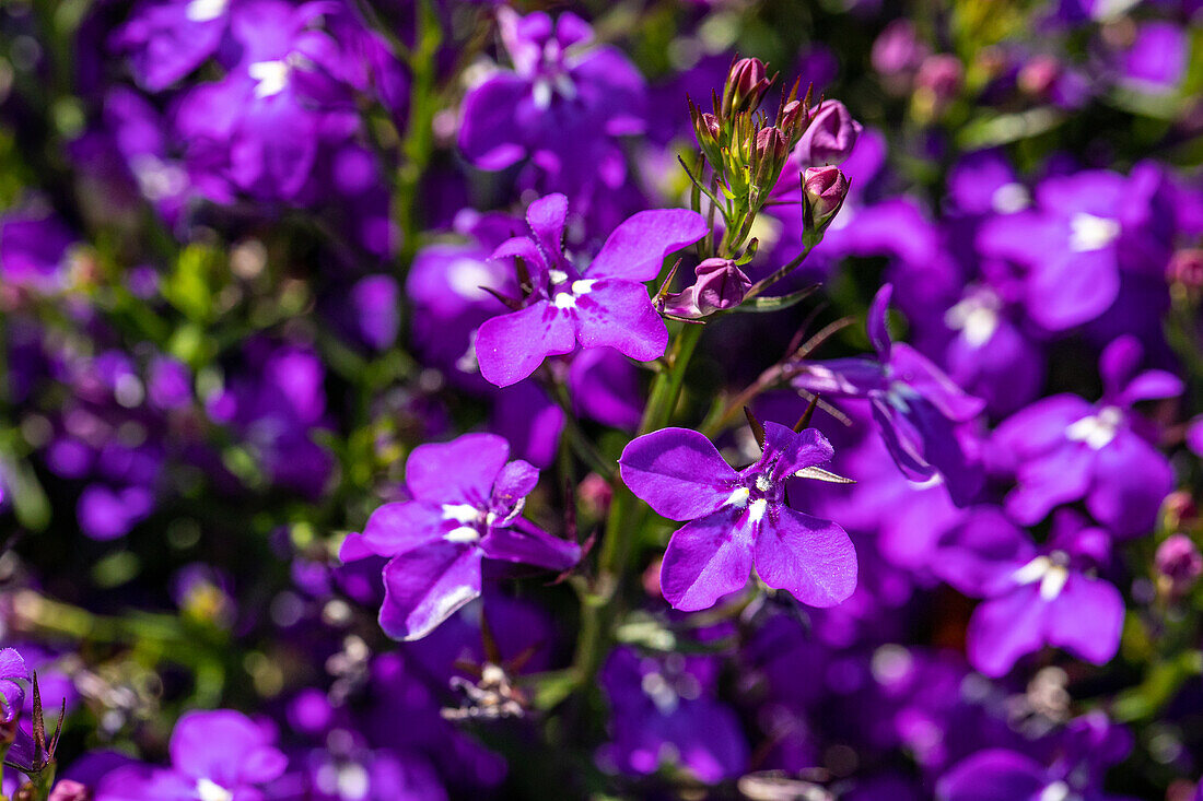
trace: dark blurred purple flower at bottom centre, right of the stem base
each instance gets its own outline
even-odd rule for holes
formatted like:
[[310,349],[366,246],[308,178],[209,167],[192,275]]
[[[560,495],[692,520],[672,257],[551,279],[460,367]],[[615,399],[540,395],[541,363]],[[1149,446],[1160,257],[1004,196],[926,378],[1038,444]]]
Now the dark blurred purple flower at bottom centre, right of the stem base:
[[602,767],[640,776],[675,761],[706,783],[739,776],[748,744],[735,712],[716,698],[716,668],[712,658],[641,659],[616,648],[600,677],[614,712]]

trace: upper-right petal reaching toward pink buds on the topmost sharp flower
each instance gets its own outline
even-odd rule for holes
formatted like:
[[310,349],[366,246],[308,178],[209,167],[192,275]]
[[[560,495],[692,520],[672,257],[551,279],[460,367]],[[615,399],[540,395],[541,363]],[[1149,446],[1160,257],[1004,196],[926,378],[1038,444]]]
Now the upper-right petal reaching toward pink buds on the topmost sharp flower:
[[650,281],[659,274],[665,256],[693,244],[706,232],[706,220],[697,212],[677,208],[639,212],[610,233],[585,274]]

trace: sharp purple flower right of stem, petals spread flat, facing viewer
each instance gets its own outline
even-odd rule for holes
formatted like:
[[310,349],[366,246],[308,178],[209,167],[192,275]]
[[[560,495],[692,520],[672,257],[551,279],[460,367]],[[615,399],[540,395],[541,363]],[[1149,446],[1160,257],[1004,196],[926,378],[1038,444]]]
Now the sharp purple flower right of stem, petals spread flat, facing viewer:
[[857,551],[842,528],[786,504],[789,479],[842,481],[819,465],[834,455],[813,428],[765,423],[760,458],[736,471],[709,439],[664,428],[627,445],[622,480],[669,520],[691,521],[669,541],[660,588],[676,609],[712,606],[760,578],[811,606],[834,606],[857,587]]

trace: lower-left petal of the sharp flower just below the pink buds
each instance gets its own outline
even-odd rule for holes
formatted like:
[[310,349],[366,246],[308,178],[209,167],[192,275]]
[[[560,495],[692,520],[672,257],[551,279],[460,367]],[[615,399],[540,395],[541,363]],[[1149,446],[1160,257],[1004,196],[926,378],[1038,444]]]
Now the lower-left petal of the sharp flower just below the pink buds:
[[[651,308],[650,302],[647,305]],[[547,301],[485,320],[476,332],[480,374],[496,386],[517,384],[547,356],[568,354],[574,348],[573,321]]]

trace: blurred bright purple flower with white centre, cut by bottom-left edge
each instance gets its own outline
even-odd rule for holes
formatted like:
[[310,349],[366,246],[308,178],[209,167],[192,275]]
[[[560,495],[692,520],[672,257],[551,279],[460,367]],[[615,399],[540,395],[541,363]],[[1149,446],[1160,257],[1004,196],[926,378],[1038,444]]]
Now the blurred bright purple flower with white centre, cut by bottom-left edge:
[[120,767],[101,781],[96,801],[261,801],[259,787],[288,766],[273,740],[232,710],[189,712],[171,732],[171,767]]

